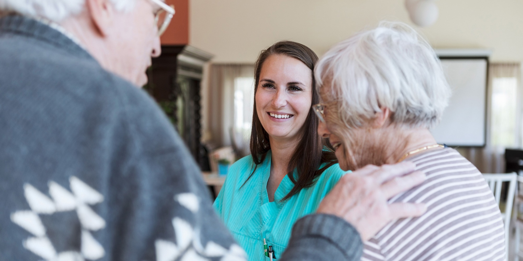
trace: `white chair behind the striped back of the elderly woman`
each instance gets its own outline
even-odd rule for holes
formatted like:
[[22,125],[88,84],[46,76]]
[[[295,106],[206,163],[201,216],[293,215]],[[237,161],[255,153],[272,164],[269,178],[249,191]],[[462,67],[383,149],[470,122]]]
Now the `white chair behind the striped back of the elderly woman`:
[[501,209],[501,216],[503,217],[503,223],[505,224],[505,251],[507,253],[506,258],[508,259],[508,238],[510,232],[510,219],[512,217],[512,207],[514,206],[514,197],[516,195],[516,183],[518,176],[515,172],[512,173],[484,173],[483,177],[488,183],[488,186],[491,188],[494,193],[494,198],[496,199],[497,205],[499,206],[499,201],[501,201],[501,188],[503,182],[508,182],[508,194],[507,202],[505,205],[505,211]]

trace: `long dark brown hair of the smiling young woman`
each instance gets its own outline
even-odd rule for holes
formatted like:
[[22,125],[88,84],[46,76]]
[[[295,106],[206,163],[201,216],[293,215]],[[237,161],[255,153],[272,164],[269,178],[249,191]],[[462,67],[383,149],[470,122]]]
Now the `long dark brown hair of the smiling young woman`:
[[[263,67],[263,64],[271,55],[285,55],[296,58],[309,67],[312,75],[312,104],[320,103],[320,95],[316,90],[316,81],[314,80],[314,65],[318,61],[318,56],[307,46],[292,41],[277,42],[268,49],[261,51],[259,54],[258,60],[254,64],[255,97],[256,91],[258,90],[261,67]],[[285,195],[285,197],[279,200],[286,200],[300,192],[302,188],[312,186],[316,181],[317,176],[320,176],[328,167],[331,167],[333,164],[338,162],[331,144],[317,134],[317,128],[318,118],[316,114],[310,110],[304,123],[303,136],[301,137],[298,146],[294,149],[294,153],[291,156],[287,168],[289,179],[294,183],[294,187],[287,195]],[[251,155],[256,167],[265,160],[269,150],[269,134],[265,131],[263,126],[261,126],[261,122],[256,112],[255,99],[253,126],[251,131]],[[326,163],[325,166],[319,169],[323,163]],[[256,167],[247,180],[254,174]],[[294,170],[297,170],[298,179],[295,179],[294,175],[292,175]]]

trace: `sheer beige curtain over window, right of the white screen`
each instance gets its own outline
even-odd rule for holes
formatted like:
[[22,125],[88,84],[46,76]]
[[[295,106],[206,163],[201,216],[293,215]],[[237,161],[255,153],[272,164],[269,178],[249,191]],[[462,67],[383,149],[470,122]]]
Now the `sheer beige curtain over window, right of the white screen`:
[[[506,84],[504,80],[507,78],[508,80],[515,78],[517,81],[514,91],[516,97],[511,100],[515,104],[507,104],[505,108],[502,108],[505,111],[499,113],[499,106],[496,106],[496,100],[493,101],[493,97],[496,98],[497,94],[504,94],[499,92],[504,91],[505,86],[503,85]],[[512,83],[513,81],[509,82],[509,84]],[[523,91],[520,63],[491,63],[488,67],[487,90],[486,146],[484,148],[458,148],[458,151],[482,173],[503,173],[505,172],[505,148],[520,148],[522,145],[523,108],[521,101]],[[511,127],[512,124],[513,127]],[[504,125],[511,128],[508,131],[500,128]],[[502,138],[499,138],[500,136]]]

